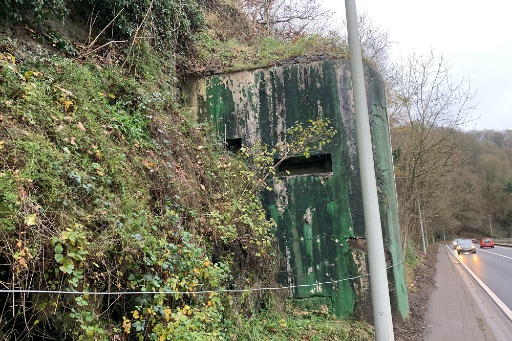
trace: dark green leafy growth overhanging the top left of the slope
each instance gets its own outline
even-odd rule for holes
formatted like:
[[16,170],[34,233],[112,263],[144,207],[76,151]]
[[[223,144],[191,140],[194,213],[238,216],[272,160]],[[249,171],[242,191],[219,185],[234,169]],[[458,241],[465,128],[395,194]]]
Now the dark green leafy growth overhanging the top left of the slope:
[[[182,47],[195,42],[198,32],[204,25],[204,14],[195,0],[2,0],[0,16],[14,21],[33,18],[40,27],[48,19],[59,18],[65,22],[70,11],[79,6],[88,5],[91,11],[99,14],[98,22],[113,22],[113,33],[118,39],[130,40],[136,34],[140,37],[142,32],[153,37],[155,42],[168,42],[168,44],[155,44],[162,51],[174,50],[171,41],[178,41]],[[78,12],[80,13],[80,12]],[[76,14],[75,14],[76,15]],[[141,21],[143,18],[145,20]],[[87,17],[83,17],[87,20]],[[100,20],[103,19],[103,20]],[[99,28],[100,30],[103,27]],[[39,40],[52,43],[55,47],[70,53],[75,53],[74,47],[60,34],[36,34]]]

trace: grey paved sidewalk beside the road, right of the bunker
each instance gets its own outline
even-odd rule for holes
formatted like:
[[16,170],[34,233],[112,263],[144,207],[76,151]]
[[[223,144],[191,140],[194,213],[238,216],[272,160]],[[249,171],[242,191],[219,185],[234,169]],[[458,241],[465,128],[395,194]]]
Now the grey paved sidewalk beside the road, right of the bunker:
[[459,274],[457,261],[439,245],[436,263],[437,289],[426,307],[425,341],[461,339],[494,341],[496,337]]

